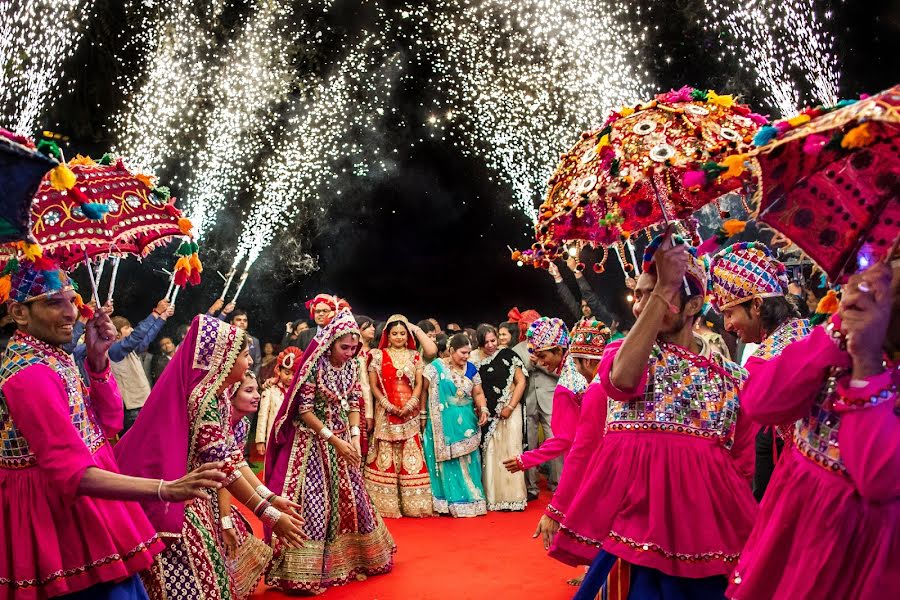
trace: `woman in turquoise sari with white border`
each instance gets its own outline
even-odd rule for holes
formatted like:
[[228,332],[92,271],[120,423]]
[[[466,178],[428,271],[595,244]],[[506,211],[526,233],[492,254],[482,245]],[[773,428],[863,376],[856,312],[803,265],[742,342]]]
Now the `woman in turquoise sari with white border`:
[[454,517],[487,514],[481,484],[481,426],[487,399],[478,369],[469,362],[472,345],[465,334],[450,338],[450,356],[425,368],[425,462],[431,478],[434,512]]

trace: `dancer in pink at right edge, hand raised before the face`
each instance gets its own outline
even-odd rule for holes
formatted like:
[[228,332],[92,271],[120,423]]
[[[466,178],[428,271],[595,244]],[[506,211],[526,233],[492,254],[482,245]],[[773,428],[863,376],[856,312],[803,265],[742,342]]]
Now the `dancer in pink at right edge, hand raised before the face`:
[[893,289],[886,265],[854,276],[840,317],[757,365],[745,386],[753,419],[796,423],[729,597],[867,600],[900,590],[900,363],[883,350],[900,341],[897,273]]

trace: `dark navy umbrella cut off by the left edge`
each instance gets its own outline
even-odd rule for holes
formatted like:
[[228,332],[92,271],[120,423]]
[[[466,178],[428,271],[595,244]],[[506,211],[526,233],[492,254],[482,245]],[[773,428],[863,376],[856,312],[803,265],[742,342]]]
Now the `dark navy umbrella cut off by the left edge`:
[[0,129],[0,243],[29,236],[34,193],[56,165],[30,139]]

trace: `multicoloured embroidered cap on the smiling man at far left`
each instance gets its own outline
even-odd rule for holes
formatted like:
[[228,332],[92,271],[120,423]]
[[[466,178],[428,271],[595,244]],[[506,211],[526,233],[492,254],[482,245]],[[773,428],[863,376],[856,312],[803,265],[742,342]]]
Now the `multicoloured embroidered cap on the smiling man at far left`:
[[[17,242],[14,247],[15,253],[10,255],[0,275],[0,301],[24,304],[53,294],[77,291],[75,282],[55,261],[43,256],[39,245]],[[75,302],[83,316],[93,316],[80,295],[76,294]]]

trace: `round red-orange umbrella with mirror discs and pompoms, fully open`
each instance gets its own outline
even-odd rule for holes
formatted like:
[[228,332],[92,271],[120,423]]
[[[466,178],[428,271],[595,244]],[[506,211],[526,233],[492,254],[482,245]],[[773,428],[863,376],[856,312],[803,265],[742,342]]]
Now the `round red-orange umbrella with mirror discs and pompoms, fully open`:
[[[537,243],[532,253],[513,258],[546,266],[572,241],[607,248],[745,190],[753,176],[744,153],[765,122],[732,96],[690,87],[619,109],[562,156],[540,207]],[[697,245],[699,235],[689,226]],[[625,247],[619,243],[619,257],[633,271]],[[596,271],[604,269],[606,255]]]

